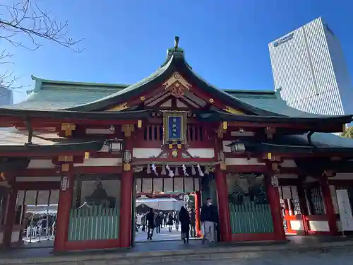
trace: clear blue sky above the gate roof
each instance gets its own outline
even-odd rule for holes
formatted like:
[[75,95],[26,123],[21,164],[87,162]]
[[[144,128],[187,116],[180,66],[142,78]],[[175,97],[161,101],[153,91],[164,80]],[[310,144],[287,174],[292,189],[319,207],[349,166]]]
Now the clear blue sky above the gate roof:
[[[80,54],[51,42],[35,52],[10,47],[14,70],[40,78],[135,83],[164,61],[179,35],[193,69],[219,88],[273,89],[268,43],[323,16],[353,73],[352,0],[60,0],[40,4],[85,38]],[[340,4],[338,4],[340,3]],[[16,102],[25,93],[14,93]]]

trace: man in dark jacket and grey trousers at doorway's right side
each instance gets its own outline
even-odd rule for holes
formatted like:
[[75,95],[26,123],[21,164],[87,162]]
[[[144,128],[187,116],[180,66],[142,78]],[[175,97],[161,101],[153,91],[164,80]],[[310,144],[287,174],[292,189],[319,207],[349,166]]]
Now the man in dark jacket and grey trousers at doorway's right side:
[[216,241],[216,225],[218,223],[218,211],[217,207],[212,204],[212,199],[207,198],[206,204],[201,207],[201,223],[203,223],[203,240],[209,242]]

